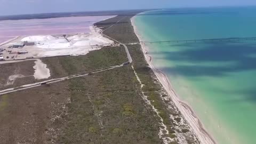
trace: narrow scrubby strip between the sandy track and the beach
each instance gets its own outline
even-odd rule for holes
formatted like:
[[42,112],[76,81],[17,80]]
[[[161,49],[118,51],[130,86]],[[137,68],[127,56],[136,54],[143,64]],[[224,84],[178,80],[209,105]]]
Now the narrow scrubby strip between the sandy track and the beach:
[[[119,42],[125,43],[129,48],[133,58],[132,66],[135,74],[138,76],[138,81],[141,83],[141,91],[145,94],[145,98],[149,100],[149,104],[153,106],[153,109],[156,108],[155,111],[159,114],[159,117],[163,118],[163,124],[166,125],[166,130],[171,134],[170,141],[166,141],[166,139],[168,139],[167,137],[162,137],[164,143],[175,141],[177,143],[199,143],[197,136],[195,136],[196,134],[194,134],[193,127],[189,126],[186,118],[184,119],[180,114],[179,109],[172,102],[172,98],[166,97],[166,94],[168,93],[164,90],[162,84],[158,82],[154,71],[149,68],[147,61],[145,61],[145,55],[143,55],[141,45],[138,44],[139,39],[134,33],[131,24],[132,17],[133,16],[126,16],[126,18],[123,19],[119,16],[119,18],[115,17],[113,19],[108,19],[108,22],[119,21],[119,23],[105,31],[105,35],[118,39]],[[99,27],[101,27],[100,24],[101,22],[98,23]],[[178,120],[178,122],[176,120]],[[183,131],[186,134],[184,135],[180,133],[180,131]],[[165,134],[166,133],[164,133],[164,135]],[[194,141],[189,138],[194,138]],[[205,143],[205,141],[201,143]]]

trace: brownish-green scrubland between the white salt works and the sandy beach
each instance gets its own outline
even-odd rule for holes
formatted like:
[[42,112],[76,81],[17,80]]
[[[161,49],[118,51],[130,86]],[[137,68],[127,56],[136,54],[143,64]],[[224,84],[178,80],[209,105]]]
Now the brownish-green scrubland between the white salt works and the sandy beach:
[[[0,89],[38,83],[1,95],[1,142],[204,143],[145,60],[131,23],[137,13],[94,23],[115,45],[86,55],[40,58],[50,69],[45,79],[35,79],[36,60],[1,64]],[[23,77],[6,85],[18,74]],[[58,82],[48,83],[54,79]]]

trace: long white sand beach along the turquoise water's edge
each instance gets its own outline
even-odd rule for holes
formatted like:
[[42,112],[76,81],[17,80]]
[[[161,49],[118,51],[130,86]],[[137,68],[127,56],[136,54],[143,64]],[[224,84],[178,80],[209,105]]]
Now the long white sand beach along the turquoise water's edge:
[[[138,31],[133,22],[134,17],[131,19],[131,23],[134,28],[134,33],[141,41],[141,36],[138,34]],[[151,63],[152,58],[150,57],[150,55],[148,55],[148,50],[145,44],[141,44],[141,48],[149,67],[154,71],[154,74],[156,75],[158,81],[163,85],[164,89],[169,94],[169,97],[172,98],[175,106],[180,110],[183,117],[189,123],[191,129],[194,131],[199,141],[205,144],[216,144],[217,142],[215,142],[212,136],[204,129],[203,124],[200,122],[193,109],[187,103],[182,102],[179,99],[177,93],[175,93],[172,88],[169,78],[161,70],[158,70],[153,66],[153,64]]]

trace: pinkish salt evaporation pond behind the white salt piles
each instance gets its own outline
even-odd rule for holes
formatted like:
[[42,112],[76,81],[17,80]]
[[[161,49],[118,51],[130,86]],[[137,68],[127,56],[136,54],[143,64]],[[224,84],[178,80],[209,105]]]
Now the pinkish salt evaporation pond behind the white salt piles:
[[0,43],[8,37],[89,33],[93,23],[113,16],[66,17],[30,20],[0,21]]

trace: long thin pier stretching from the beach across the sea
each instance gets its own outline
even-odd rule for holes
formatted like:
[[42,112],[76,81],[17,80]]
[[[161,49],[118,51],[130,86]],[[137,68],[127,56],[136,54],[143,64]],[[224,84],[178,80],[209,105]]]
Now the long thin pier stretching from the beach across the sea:
[[213,38],[213,39],[189,39],[189,40],[170,40],[170,41],[156,41],[156,42],[147,42],[141,41],[140,43],[191,43],[191,42],[230,42],[230,41],[256,41],[256,37],[233,37],[233,38]]

